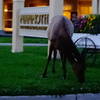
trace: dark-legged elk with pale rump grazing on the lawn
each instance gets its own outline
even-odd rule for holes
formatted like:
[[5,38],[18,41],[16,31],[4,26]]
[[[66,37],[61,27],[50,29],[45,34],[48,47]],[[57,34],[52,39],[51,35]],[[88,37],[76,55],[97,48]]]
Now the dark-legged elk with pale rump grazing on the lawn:
[[80,53],[73,43],[71,38],[73,32],[74,26],[65,16],[58,15],[52,18],[48,27],[48,40],[50,41],[49,55],[43,77],[47,76],[48,64],[52,58],[52,53],[52,71],[55,72],[55,60],[58,50],[62,62],[63,78],[66,79],[66,61],[69,61],[72,64],[72,69],[78,81],[80,83],[85,81],[84,53]]

